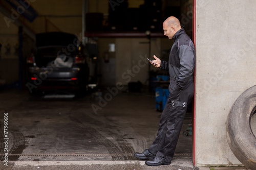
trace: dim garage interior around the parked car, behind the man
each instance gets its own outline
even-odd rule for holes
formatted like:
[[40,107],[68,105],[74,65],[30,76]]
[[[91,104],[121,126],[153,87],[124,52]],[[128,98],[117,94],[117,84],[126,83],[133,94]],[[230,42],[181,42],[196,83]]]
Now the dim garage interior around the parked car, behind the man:
[[[0,107],[8,113],[9,160],[136,160],[133,154],[154,140],[168,96],[168,72],[146,58],[168,59],[173,40],[162,31],[168,16],[180,19],[192,38],[193,1],[22,2],[0,1]],[[27,60],[35,35],[45,32],[75,34],[84,45],[90,68],[86,95],[30,94]],[[193,109],[191,104],[174,162],[193,165]]]

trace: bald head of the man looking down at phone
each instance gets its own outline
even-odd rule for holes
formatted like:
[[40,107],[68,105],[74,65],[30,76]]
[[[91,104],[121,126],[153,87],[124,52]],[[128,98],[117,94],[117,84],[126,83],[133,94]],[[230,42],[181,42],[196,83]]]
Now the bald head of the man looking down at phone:
[[164,35],[169,39],[173,39],[174,34],[181,29],[180,21],[174,16],[168,17],[163,22]]

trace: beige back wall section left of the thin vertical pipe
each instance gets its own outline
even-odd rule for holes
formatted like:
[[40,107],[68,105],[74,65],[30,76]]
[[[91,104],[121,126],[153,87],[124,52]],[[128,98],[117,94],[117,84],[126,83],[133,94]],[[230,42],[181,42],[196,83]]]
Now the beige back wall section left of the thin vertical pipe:
[[147,38],[116,38],[116,82],[127,85],[140,81],[144,84],[148,76],[149,45]]

